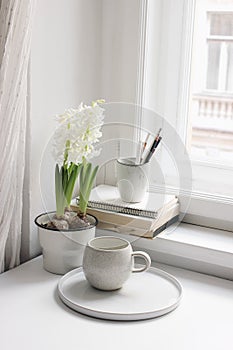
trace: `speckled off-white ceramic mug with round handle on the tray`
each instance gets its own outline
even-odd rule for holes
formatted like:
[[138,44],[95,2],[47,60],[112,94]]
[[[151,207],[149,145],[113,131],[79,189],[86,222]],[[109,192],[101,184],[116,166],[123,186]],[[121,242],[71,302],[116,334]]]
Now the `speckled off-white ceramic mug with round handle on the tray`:
[[[134,257],[145,260],[145,266],[135,268]],[[84,251],[83,272],[89,283],[101,290],[122,287],[132,272],[142,272],[151,265],[150,256],[133,252],[131,244],[122,238],[103,236],[91,239]]]

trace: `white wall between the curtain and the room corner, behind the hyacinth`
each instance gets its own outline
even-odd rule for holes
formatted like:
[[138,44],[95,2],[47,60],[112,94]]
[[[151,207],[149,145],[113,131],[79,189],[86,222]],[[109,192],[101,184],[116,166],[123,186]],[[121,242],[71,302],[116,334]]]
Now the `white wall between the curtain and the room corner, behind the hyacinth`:
[[[99,97],[100,72],[96,66],[100,62],[100,17],[99,1],[37,2],[30,69],[30,214],[29,224],[25,227],[24,223],[25,258],[39,252],[33,221],[45,211],[40,193],[40,163],[55,128],[54,115],[81,101],[89,102]],[[51,180],[48,175],[48,186],[51,186]]]

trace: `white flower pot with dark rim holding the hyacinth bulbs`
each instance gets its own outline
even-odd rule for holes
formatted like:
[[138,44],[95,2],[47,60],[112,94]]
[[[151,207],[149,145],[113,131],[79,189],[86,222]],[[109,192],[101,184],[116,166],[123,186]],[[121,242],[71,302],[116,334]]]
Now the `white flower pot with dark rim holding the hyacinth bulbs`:
[[59,231],[44,228],[43,224],[50,221],[52,214],[54,213],[39,215],[35,219],[35,223],[38,226],[44,269],[63,275],[76,267],[82,266],[86,244],[95,237],[97,219],[93,215],[88,215],[94,222],[93,225],[80,230]]

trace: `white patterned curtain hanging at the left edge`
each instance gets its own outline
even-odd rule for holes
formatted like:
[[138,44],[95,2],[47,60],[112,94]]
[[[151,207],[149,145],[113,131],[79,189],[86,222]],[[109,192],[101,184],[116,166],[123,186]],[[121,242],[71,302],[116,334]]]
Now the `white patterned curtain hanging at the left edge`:
[[[27,73],[36,0],[0,0],[0,271],[20,262]],[[6,249],[7,247],[7,249]]]

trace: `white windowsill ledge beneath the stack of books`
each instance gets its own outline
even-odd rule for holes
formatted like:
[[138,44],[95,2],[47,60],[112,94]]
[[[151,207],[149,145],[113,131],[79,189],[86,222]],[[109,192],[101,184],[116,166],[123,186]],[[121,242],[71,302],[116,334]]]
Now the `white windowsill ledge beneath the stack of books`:
[[[98,230],[98,235],[107,231]],[[152,260],[233,280],[233,233],[190,224],[180,224],[155,239],[110,232],[128,239],[134,250],[147,251]]]

